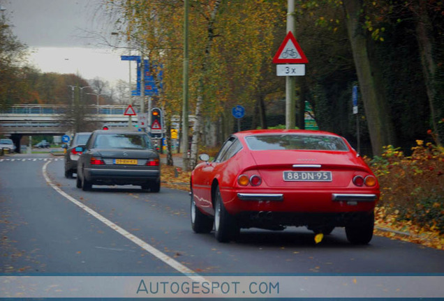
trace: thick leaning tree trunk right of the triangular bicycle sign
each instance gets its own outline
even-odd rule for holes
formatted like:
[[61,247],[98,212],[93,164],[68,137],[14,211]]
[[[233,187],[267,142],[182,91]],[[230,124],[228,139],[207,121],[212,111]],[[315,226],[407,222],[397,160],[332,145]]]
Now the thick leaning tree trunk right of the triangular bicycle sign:
[[367,34],[363,29],[360,14],[364,7],[362,0],[344,0],[343,6],[347,15],[348,38],[353,50],[353,59],[360,83],[364,110],[369,125],[373,155],[381,155],[383,146],[393,144],[393,126],[388,114],[384,93],[378,91],[376,74],[367,49]]

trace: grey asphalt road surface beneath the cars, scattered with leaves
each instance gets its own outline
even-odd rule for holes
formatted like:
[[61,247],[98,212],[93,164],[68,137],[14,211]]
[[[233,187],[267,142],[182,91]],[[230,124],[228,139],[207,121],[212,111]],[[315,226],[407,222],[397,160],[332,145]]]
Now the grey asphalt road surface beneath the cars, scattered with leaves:
[[166,188],[158,194],[136,186],[94,186],[83,192],[75,179],[64,178],[62,157],[1,157],[0,273],[444,272],[442,251],[378,236],[370,245],[354,246],[343,229],[335,229],[319,244],[302,228],[242,230],[237,242],[222,244],[213,233],[193,233],[188,207],[187,192]]

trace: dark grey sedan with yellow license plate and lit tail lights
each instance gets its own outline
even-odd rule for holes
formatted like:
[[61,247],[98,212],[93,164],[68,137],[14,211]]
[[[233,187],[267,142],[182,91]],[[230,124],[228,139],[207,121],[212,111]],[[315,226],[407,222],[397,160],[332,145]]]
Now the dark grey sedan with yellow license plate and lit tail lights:
[[145,132],[96,130],[77,161],[77,187],[92,185],[140,185],[142,190],[161,190],[158,153]]

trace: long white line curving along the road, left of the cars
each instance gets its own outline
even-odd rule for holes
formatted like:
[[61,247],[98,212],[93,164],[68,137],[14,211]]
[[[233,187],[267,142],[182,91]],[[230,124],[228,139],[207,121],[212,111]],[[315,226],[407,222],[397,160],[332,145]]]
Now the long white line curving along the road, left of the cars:
[[134,236],[133,234],[131,234],[128,231],[126,231],[125,229],[121,228],[120,226],[117,226],[117,224],[114,224],[113,222],[111,222],[106,217],[103,217],[103,215],[100,215],[100,214],[96,213],[96,211],[94,211],[91,208],[89,208],[88,206],[85,206],[84,203],[82,203],[80,201],[77,201],[76,199],[74,199],[69,194],[66,194],[66,192],[61,190],[54,183],[52,183],[52,180],[50,179],[50,177],[47,176],[46,167],[47,167],[47,164],[50,164],[50,163],[51,163],[51,161],[48,161],[48,162],[45,163],[45,165],[43,165],[43,169],[42,169],[43,177],[45,177],[46,182],[52,188],[54,188],[55,191],[59,192],[59,194],[61,194],[62,196],[66,197],[66,199],[68,199],[69,201],[75,203],[75,205],[79,206],[80,208],[85,210],[87,213],[89,213],[93,217],[96,217],[96,219],[98,219],[99,221],[103,222],[103,224],[109,226],[111,229],[113,229],[117,233],[121,234],[125,238],[128,238],[128,240],[131,240],[132,242],[134,242],[139,247],[142,247],[142,249],[145,249],[147,252],[149,252],[150,254],[154,255],[155,257],[157,257],[158,259],[160,259],[164,263],[170,265],[171,268],[174,268],[175,270],[177,270],[177,271],[181,272],[182,274],[188,276],[189,278],[193,279],[194,281],[199,281],[199,282],[207,281],[204,277],[198,275],[193,270],[190,270],[189,268],[187,268],[182,263],[179,263],[178,261],[175,261],[175,259],[173,259],[170,256],[164,254],[163,252],[159,251],[155,247],[149,245],[147,242],[141,240],[137,236]]

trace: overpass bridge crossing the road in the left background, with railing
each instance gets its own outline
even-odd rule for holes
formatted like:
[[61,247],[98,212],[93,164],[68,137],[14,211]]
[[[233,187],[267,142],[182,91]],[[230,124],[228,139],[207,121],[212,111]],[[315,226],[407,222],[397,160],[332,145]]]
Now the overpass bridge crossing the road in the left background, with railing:
[[[103,125],[114,127],[127,127],[128,116],[124,112],[128,105],[92,105],[89,106],[90,117],[97,121],[99,128]],[[133,105],[136,113],[137,105]],[[46,134],[61,136],[66,129],[60,126],[60,119],[69,109],[68,105],[13,105],[0,111],[0,134],[13,139],[17,151],[20,151],[20,139],[23,135],[33,136]],[[137,116],[133,116],[133,122]]]

